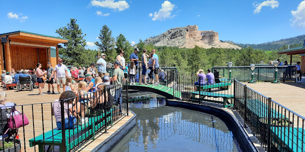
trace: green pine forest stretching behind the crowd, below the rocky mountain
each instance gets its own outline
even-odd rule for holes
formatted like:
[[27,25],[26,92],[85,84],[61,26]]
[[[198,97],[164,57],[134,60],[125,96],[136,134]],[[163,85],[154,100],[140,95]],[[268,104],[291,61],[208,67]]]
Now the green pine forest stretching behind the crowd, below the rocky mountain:
[[[70,23],[56,32],[68,39],[68,43],[64,44],[64,48],[59,50],[59,53],[64,55],[64,63],[73,66],[88,66],[91,62],[96,62],[98,59],[97,50],[85,49],[85,34],[76,24],[75,19],[71,19]],[[265,51],[254,49],[252,47],[242,49],[225,49],[225,48],[210,48],[203,49],[195,46],[193,49],[178,48],[178,47],[156,47],[153,44],[145,45],[140,39],[139,43],[131,46],[129,41],[123,34],[117,35],[115,38],[112,31],[107,25],[104,25],[99,33],[99,41],[95,44],[98,46],[100,53],[106,54],[106,61],[113,63],[118,55],[118,49],[123,49],[125,52],[126,62],[129,62],[129,56],[137,47],[140,51],[138,56],[141,57],[143,49],[147,49],[148,53],[156,49],[156,53],[160,59],[160,65],[165,67],[177,67],[179,71],[194,72],[201,69],[207,69],[214,66],[227,66],[228,62],[233,62],[233,66],[250,66],[250,64],[259,64],[263,61],[265,64],[269,61],[280,59],[280,61],[290,62],[290,56],[286,54],[278,54],[278,50],[288,49],[287,45],[282,45],[276,51]],[[299,47],[301,44],[291,45],[290,48]],[[300,61],[299,55],[293,55],[292,63]]]

